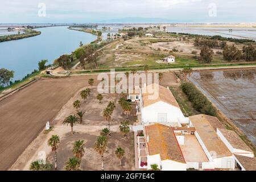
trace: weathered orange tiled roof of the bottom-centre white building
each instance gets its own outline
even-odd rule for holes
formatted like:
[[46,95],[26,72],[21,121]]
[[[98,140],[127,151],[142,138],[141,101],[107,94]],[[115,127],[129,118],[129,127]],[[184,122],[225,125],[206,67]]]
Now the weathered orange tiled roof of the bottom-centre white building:
[[179,163],[185,163],[179,143],[175,137],[172,127],[156,123],[145,126],[146,147],[148,155],[159,154],[161,160],[173,160]]

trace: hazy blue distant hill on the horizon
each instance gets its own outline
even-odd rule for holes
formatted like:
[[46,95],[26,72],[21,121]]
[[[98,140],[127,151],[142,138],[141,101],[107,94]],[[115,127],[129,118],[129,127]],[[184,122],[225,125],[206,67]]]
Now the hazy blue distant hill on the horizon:
[[172,20],[164,18],[142,18],[142,17],[127,17],[119,19],[102,20],[100,23],[172,23]]

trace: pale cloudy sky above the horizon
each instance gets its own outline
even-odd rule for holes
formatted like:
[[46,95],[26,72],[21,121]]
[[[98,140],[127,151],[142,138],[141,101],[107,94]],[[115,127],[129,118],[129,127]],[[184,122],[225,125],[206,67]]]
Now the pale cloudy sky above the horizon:
[[256,22],[255,10],[255,0],[0,0],[0,23],[86,23],[126,17]]

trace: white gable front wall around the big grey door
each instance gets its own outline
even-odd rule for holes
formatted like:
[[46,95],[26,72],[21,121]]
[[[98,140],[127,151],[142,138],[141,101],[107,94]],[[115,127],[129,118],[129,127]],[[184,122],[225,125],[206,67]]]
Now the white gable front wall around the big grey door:
[[158,122],[158,114],[167,113],[167,122],[179,123],[180,120],[184,120],[184,115],[181,110],[175,106],[166,104],[165,102],[159,101],[150,106],[142,109],[142,120],[143,123],[155,123]]

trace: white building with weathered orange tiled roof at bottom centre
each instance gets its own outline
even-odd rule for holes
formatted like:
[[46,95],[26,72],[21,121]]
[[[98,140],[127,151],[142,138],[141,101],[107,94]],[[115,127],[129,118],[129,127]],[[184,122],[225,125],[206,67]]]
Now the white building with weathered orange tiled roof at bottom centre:
[[147,169],[157,164],[162,171],[186,171],[183,154],[172,127],[156,123],[144,126]]

